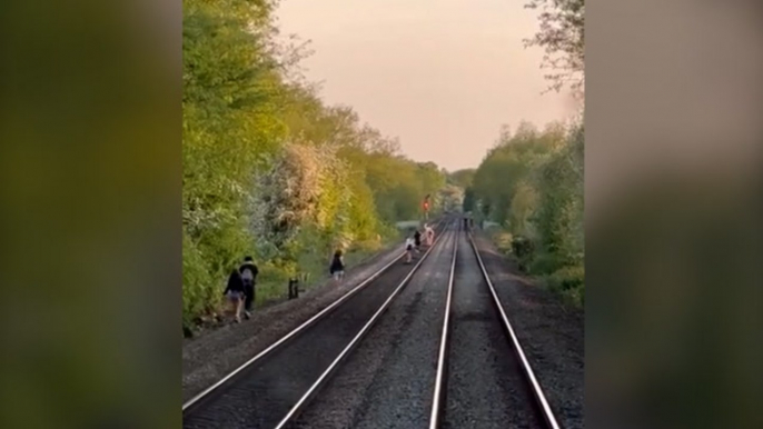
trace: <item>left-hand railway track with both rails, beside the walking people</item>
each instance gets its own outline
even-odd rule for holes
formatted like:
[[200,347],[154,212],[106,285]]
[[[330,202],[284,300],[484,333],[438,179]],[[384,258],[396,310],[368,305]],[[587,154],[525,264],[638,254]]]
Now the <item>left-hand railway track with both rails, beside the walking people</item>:
[[184,428],[281,428],[293,419],[440,242],[412,266],[394,259],[182,406]]

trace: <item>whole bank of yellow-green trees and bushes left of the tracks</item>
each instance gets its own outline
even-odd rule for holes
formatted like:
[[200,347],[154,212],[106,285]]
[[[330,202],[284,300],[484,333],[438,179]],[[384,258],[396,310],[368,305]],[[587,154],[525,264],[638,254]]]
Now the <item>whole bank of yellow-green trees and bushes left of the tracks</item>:
[[[245,255],[258,300],[297,273],[321,278],[396,238],[397,220],[453,206],[446,174],[300,79],[303,50],[279,42],[269,0],[184,1],[184,323],[219,310]],[[454,197],[456,194],[456,197]]]

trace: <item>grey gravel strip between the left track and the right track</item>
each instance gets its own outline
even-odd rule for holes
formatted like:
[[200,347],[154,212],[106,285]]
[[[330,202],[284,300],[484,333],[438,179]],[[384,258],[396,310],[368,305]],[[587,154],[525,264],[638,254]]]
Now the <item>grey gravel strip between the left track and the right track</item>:
[[299,428],[422,428],[432,409],[454,235],[304,410]]

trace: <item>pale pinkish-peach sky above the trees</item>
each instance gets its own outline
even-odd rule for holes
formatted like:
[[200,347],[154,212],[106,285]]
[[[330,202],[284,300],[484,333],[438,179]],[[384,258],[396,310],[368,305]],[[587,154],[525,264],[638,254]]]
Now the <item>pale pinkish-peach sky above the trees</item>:
[[525,0],[283,0],[284,34],[310,40],[307,78],[417,161],[476,168],[503,123],[565,119],[568,97],[541,92],[537,30]]

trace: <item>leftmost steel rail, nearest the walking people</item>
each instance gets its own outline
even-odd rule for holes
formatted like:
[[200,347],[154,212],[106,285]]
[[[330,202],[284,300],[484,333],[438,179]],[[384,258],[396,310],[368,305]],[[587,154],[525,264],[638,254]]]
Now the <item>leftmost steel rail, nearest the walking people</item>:
[[[445,220],[440,220],[439,222],[437,222],[437,226],[436,226],[435,228],[439,227],[439,226],[443,225],[444,222],[446,222],[446,221],[445,221]],[[447,227],[447,223],[446,223],[446,227]],[[438,235],[438,236],[439,236],[439,235]],[[435,238],[435,243],[437,242],[437,239],[438,239],[438,238],[439,238],[439,237],[436,237],[436,238]],[[434,248],[434,245],[435,245],[435,243],[433,243],[433,246],[427,250],[427,253],[425,253],[425,255],[428,255],[429,250],[432,250],[432,249]],[[364,280],[363,282],[360,282],[358,286],[356,286],[355,288],[350,289],[350,290],[347,291],[345,295],[343,295],[341,297],[339,297],[336,301],[331,302],[328,307],[326,307],[326,308],[324,308],[323,310],[320,310],[317,315],[313,316],[313,317],[309,318],[307,321],[303,322],[303,323],[299,325],[297,328],[293,329],[289,333],[285,335],[285,336],[281,337],[279,340],[277,340],[276,342],[274,342],[272,345],[270,345],[268,348],[266,348],[265,350],[262,350],[262,351],[260,351],[259,353],[257,353],[254,358],[247,360],[246,362],[244,362],[242,365],[240,365],[238,368],[236,368],[236,369],[234,369],[232,371],[230,371],[227,376],[222,377],[220,380],[218,380],[217,382],[215,382],[215,383],[211,385],[210,387],[208,387],[208,388],[206,388],[205,390],[202,390],[200,393],[196,395],[195,397],[192,397],[191,399],[189,399],[188,401],[186,401],[186,402],[182,405],[182,412],[185,413],[186,411],[188,411],[188,410],[190,409],[190,407],[192,407],[194,405],[196,405],[197,402],[199,402],[201,399],[205,399],[207,396],[209,396],[209,393],[211,393],[212,391],[217,390],[220,386],[222,386],[222,385],[225,385],[226,382],[228,382],[229,380],[231,380],[236,375],[238,375],[239,372],[241,372],[241,371],[242,371],[244,369],[246,369],[247,367],[251,366],[252,363],[257,362],[258,360],[261,360],[262,358],[265,358],[266,356],[268,356],[269,353],[271,353],[274,350],[278,349],[280,346],[283,346],[284,343],[286,343],[288,340],[295,338],[297,335],[301,333],[301,332],[305,331],[307,328],[309,328],[310,326],[315,325],[317,321],[319,321],[319,320],[323,319],[324,317],[328,316],[333,310],[335,310],[337,307],[339,307],[339,305],[341,305],[343,302],[347,301],[349,298],[351,298],[351,297],[355,296],[357,292],[359,292],[361,289],[364,289],[366,286],[368,286],[371,281],[376,280],[379,276],[382,276],[383,273],[385,273],[392,266],[394,266],[394,265],[397,263],[400,259],[403,259],[403,257],[405,257],[405,252],[404,252],[404,253],[400,253],[400,256],[396,257],[396,258],[393,259],[389,263],[387,263],[387,265],[385,265],[384,267],[382,267],[378,271],[374,272],[370,277],[368,277],[366,280]],[[415,268],[414,268],[414,269],[415,269]]]

